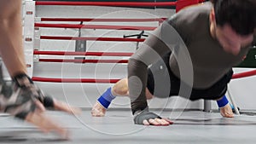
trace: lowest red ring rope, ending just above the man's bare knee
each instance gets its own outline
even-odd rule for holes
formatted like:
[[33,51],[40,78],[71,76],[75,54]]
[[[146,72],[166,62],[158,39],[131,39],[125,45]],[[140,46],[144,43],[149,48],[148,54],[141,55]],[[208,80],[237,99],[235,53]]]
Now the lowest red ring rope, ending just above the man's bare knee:
[[115,84],[119,79],[91,79],[91,78],[38,78],[33,77],[33,81],[53,82],[53,83],[111,83]]

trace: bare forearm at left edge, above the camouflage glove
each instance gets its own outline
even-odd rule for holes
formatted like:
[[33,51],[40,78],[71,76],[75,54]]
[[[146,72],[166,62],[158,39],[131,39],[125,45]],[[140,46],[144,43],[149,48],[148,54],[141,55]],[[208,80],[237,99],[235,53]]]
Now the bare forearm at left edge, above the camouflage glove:
[[26,73],[20,12],[20,0],[0,2],[0,53],[12,78]]

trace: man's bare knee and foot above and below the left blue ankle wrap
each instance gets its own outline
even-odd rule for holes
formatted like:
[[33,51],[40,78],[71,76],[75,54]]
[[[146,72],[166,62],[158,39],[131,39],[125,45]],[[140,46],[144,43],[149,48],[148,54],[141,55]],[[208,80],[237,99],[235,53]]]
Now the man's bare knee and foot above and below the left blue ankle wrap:
[[[128,79],[123,78],[119,80],[119,82],[113,85],[111,90],[112,94],[115,96],[129,96]],[[146,97],[147,99],[152,99],[154,95],[152,95],[148,89],[146,89]],[[104,117],[106,111],[107,109],[102,107],[102,105],[96,101],[95,105],[91,109],[91,115],[93,117]]]

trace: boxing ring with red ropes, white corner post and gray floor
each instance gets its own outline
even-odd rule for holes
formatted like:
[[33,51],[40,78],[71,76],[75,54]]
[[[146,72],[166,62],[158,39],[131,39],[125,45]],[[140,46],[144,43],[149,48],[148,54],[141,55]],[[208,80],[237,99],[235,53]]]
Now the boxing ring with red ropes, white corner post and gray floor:
[[[108,14],[108,18],[37,16],[37,9],[41,9],[42,12],[42,9],[46,8],[45,11],[47,11],[47,8],[53,5],[54,7],[50,9],[60,7],[61,10],[65,10],[67,7],[76,8],[77,6],[81,9],[93,7],[100,10],[125,6],[139,7],[138,9],[176,6],[174,10],[178,11],[191,3],[201,3],[201,1],[180,0],[162,3],[26,1],[24,3],[26,66],[33,81],[57,98],[73,106],[82,107],[83,112],[80,116],[48,112],[50,116],[60,119],[61,123],[70,130],[71,141],[61,141],[52,134],[42,135],[30,124],[24,124],[8,115],[1,115],[0,143],[255,143],[256,117],[241,113],[236,114],[235,118],[222,118],[218,112],[211,109],[212,107],[209,107],[211,112],[203,112],[202,101],[194,103],[196,107],[199,105],[201,108],[177,107],[176,110],[173,110],[173,107],[166,107],[166,102],[150,101],[152,103],[149,102],[149,107],[152,104],[152,111],[159,113],[161,117],[172,118],[174,121],[174,124],[167,127],[133,124],[129,108],[130,101],[126,98],[114,100],[105,117],[90,116],[90,107],[97,97],[104,89],[127,75],[126,66],[129,57],[137,50],[140,43],[143,43],[148,36],[147,33],[154,31],[156,26],[166,20],[166,17],[130,18],[127,16],[129,18],[126,18],[121,15],[123,18],[109,18]],[[53,9],[53,12],[55,10]],[[65,34],[66,31],[72,34]],[[107,31],[107,34],[90,36],[92,32],[97,31]],[[83,32],[88,32],[88,36],[87,33],[84,36]],[[52,47],[53,45],[61,47],[62,42],[65,42],[63,49]],[[113,43],[128,43],[127,47],[131,48],[126,49],[125,46]],[[46,49],[47,46],[49,48]],[[101,48],[98,48],[99,46]],[[236,81],[235,79],[254,75],[256,70],[236,72],[232,79]],[[231,99],[232,97],[230,96]],[[170,105],[172,101],[169,101]],[[236,102],[233,101],[236,107]]]

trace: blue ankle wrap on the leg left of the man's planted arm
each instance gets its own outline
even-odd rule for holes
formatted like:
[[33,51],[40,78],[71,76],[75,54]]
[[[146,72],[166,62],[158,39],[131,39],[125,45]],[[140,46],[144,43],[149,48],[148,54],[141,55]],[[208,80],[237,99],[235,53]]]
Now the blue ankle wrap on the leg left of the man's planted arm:
[[111,88],[108,88],[101,97],[98,98],[97,101],[99,101],[102,105],[102,107],[105,107],[106,109],[110,105],[111,101],[115,98],[114,95],[111,93]]

